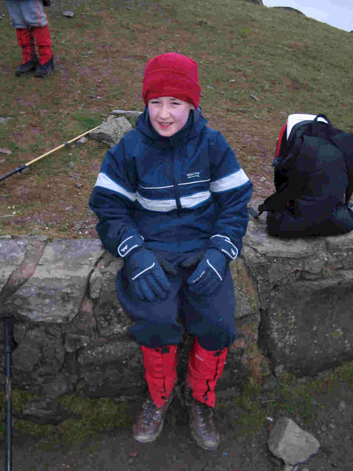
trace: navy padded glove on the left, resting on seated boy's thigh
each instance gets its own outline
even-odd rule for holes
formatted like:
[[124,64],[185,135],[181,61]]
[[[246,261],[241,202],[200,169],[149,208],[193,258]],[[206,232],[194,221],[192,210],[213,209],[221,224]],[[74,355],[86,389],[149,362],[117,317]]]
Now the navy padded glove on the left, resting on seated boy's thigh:
[[[164,259],[160,260],[163,264]],[[125,263],[132,291],[140,300],[153,301],[155,298],[167,298],[170,283],[153,252],[144,247],[137,248],[126,257]],[[171,264],[168,265],[174,268]]]

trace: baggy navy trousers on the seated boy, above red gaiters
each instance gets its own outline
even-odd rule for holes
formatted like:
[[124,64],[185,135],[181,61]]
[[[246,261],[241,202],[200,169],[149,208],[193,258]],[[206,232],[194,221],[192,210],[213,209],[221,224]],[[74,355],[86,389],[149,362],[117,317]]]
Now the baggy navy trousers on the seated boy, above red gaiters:
[[166,276],[171,290],[166,300],[141,301],[131,291],[125,267],[117,274],[117,296],[121,307],[134,321],[129,333],[139,345],[159,348],[177,345],[186,332],[195,335],[207,350],[221,350],[236,338],[233,279],[227,266],[225,278],[210,296],[189,292],[186,281],[196,267],[182,268],[180,264],[191,253],[154,252],[177,269],[177,275]]

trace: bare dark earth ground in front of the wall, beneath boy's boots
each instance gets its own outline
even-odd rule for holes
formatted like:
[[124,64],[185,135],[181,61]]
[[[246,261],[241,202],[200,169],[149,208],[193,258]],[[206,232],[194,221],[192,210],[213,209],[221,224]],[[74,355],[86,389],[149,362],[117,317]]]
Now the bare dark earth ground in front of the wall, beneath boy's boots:
[[[318,397],[320,406],[313,425],[306,429],[320,442],[320,450],[297,471],[348,471],[353,469],[353,392],[345,382],[336,390]],[[134,403],[138,412],[141,403]],[[255,434],[244,433],[234,423],[244,414],[230,406],[217,410],[221,445],[212,452],[199,448],[191,438],[185,409],[177,398],[170,406],[160,437],[153,443],[136,442],[131,430],[110,430],[72,447],[48,439],[46,449],[24,436],[13,438],[13,470],[59,471],[274,471],[283,463],[274,459],[267,447],[273,422],[267,421]],[[274,417],[274,421],[276,417]],[[295,418],[294,418],[295,420]],[[2,462],[0,462],[2,464]]]

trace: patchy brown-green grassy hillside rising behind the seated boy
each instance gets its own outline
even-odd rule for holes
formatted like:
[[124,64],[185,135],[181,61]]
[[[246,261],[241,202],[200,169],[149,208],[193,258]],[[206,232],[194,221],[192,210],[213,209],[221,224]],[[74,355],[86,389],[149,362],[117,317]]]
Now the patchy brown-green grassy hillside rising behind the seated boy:
[[[324,112],[353,130],[352,34],[312,18],[242,0],[64,0],[46,11],[56,72],[18,78],[20,50],[0,0],[1,117],[12,117],[0,123],[0,147],[12,152],[0,154],[0,175],[113,109],[143,110],[144,66],[168,51],[199,63],[203,114],[233,146],[254,198],[273,191],[271,163],[287,114]],[[88,198],[107,149],[72,144],[0,182],[0,235],[97,237]]]

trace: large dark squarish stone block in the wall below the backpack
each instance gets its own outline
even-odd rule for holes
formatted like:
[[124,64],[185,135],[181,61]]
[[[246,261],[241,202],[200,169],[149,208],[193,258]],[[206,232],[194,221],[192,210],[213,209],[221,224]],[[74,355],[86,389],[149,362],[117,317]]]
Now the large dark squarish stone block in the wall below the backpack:
[[270,293],[265,341],[277,373],[315,375],[353,357],[353,271]]

